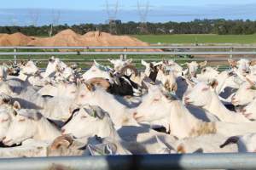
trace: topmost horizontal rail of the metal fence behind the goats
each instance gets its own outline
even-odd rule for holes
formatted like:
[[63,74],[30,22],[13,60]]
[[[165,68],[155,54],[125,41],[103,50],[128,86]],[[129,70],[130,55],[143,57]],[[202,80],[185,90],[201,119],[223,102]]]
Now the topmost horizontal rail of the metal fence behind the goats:
[[183,48],[256,48],[256,46],[9,46],[0,49],[183,49]]

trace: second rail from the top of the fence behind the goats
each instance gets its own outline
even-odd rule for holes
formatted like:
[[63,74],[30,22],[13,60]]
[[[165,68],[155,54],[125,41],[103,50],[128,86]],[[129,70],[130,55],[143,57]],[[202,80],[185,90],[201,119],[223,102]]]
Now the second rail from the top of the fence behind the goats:
[[0,52],[0,55],[255,55],[255,52]]

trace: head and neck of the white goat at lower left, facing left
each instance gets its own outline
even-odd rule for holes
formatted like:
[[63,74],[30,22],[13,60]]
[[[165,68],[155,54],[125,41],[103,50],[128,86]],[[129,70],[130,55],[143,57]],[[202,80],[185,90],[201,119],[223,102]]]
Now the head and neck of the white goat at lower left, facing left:
[[26,139],[51,142],[61,132],[36,110],[20,109],[15,104],[16,115],[3,138],[3,144],[20,144]]

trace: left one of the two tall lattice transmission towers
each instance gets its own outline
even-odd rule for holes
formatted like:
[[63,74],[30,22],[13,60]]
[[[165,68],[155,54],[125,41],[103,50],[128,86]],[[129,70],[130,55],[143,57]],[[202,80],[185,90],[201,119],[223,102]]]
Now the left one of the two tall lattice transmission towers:
[[117,34],[116,16],[119,9],[119,0],[116,0],[116,3],[113,5],[109,5],[108,0],[106,0],[106,9],[108,13],[109,32],[111,34]]

